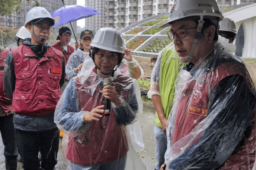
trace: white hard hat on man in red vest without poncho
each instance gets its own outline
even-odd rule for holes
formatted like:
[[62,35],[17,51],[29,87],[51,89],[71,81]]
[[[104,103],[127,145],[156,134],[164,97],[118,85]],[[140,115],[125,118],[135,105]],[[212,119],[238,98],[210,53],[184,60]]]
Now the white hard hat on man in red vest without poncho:
[[24,26],[26,27],[28,22],[39,18],[48,18],[50,25],[54,25],[55,20],[53,17],[51,17],[50,13],[44,7],[35,6],[27,12]]

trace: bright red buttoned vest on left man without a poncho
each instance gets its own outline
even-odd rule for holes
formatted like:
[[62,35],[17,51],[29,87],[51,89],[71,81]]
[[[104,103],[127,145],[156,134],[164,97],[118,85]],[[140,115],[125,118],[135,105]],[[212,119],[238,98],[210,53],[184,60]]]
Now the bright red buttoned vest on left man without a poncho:
[[29,116],[53,113],[61,96],[61,52],[49,47],[39,60],[26,45],[20,45],[11,51],[16,78],[12,110]]

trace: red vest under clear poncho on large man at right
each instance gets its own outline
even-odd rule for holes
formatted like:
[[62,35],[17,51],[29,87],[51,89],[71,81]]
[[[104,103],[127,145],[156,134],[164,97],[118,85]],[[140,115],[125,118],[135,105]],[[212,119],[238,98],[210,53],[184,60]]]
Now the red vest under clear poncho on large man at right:
[[[235,74],[241,74],[244,76],[248,75],[242,65],[235,63],[223,63],[218,65],[214,69],[214,72],[209,71],[203,74],[201,77],[197,77],[195,81],[189,81],[189,83],[184,82],[185,85],[177,98],[179,102],[178,108],[175,111],[177,114],[175,115],[174,119],[175,128],[172,132],[172,145],[188,135],[195,128],[195,126],[197,126],[207,117],[207,107],[209,102],[208,96],[212,93],[218,82],[227,76]],[[245,79],[248,80],[248,78]],[[250,83],[251,82],[247,82],[249,88],[251,88]],[[256,112],[254,111],[253,113],[255,117]],[[218,168],[218,170],[241,170],[240,168],[246,167],[248,163],[249,165],[253,165],[255,160],[256,144],[255,118],[253,120],[252,125],[246,129],[246,135],[244,135],[244,138],[242,139],[242,141],[246,141],[245,144],[237,146],[225,163]],[[203,131],[200,132],[200,135],[203,135]],[[189,137],[186,140],[190,141]],[[197,140],[200,140],[199,135]],[[179,148],[182,148],[183,145],[186,144],[176,145],[173,148],[177,147],[179,150]],[[245,169],[247,170],[248,167]]]

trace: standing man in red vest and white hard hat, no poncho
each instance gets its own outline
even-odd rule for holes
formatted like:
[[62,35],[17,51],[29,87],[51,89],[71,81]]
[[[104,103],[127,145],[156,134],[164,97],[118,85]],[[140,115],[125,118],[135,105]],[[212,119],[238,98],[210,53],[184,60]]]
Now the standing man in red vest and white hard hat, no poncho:
[[54,170],[57,163],[59,131],[53,117],[64,83],[65,64],[62,53],[46,43],[53,24],[45,8],[31,8],[24,24],[31,39],[25,38],[23,45],[11,49],[4,66],[3,88],[12,101],[24,170]]

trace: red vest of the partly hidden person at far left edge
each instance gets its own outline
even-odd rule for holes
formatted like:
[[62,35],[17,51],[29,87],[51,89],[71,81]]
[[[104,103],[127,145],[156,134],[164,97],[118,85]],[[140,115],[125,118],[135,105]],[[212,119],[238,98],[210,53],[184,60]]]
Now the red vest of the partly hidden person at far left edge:
[[3,112],[7,115],[11,110],[10,100],[7,98],[6,94],[3,92],[3,67],[5,64],[5,58],[8,54],[9,50],[2,50],[0,52],[0,107]]

